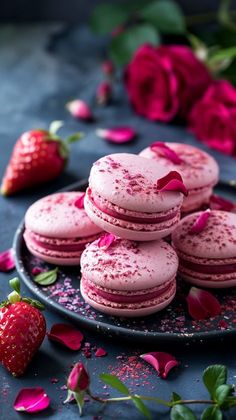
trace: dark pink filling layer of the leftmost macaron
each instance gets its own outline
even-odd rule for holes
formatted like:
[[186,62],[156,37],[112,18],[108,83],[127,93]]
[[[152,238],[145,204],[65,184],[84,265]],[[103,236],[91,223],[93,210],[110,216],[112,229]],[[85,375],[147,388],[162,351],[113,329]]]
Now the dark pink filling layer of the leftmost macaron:
[[25,230],[24,238],[32,247],[53,252],[77,252],[83,251],[87,243],[93,242],[99,235],[85,238],[49,238],[35,234],[29,229]]

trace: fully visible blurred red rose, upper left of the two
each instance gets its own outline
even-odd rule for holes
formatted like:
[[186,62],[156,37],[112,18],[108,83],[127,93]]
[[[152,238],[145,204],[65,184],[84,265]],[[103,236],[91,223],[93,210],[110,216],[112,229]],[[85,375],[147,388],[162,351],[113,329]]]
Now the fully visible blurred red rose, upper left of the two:
[[140,47],[125,73],[136,112],[150,120],[186,118],[211,82],[204,66],[185,46]]

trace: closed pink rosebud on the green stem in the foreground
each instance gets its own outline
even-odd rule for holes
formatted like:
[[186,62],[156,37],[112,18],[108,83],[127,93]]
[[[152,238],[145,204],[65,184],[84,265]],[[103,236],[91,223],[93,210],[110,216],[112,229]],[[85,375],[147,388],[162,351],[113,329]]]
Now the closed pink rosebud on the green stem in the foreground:
[[83,363],[76,363],[67,379],[67,388],[75,393],[86,391],[89,387],[89,375]]

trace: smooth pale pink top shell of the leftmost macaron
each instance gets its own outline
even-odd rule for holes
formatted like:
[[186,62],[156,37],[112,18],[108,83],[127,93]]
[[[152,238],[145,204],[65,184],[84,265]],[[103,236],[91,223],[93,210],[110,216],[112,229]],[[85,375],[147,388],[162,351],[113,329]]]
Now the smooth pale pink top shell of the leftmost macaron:
[[82,195],[73,191],[41,198],[27,210],[26,228],[49,238],[79,238],[101,232],[84,208],[75,205]]

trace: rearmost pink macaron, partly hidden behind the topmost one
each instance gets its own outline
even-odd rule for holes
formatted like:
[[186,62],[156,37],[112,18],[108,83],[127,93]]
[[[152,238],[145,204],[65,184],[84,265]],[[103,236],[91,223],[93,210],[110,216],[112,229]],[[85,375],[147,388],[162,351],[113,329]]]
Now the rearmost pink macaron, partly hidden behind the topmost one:
[[189,193],[184,198],[182,212],[198,210],[209,202],[212,189],[219,180],[219,167],[208,153],[190,144],[155,142],[140,156],[181,174]]

